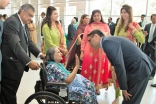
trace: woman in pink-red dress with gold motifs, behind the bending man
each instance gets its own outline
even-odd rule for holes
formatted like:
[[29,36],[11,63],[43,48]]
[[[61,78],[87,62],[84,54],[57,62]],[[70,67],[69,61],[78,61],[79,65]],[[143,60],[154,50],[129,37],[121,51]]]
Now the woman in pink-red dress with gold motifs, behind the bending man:
[[100,88],[109,86],[110,63],[102,49],[94,50],[88,43],[87,35],[94,29],[99,29],[105,35],[110,35],[110,29],[103,21],[100,10],[92,12],[90,22],[84,31],[80,55],[80,59],[83,60],[81,74],[95,84],[97,94],[100,94]]

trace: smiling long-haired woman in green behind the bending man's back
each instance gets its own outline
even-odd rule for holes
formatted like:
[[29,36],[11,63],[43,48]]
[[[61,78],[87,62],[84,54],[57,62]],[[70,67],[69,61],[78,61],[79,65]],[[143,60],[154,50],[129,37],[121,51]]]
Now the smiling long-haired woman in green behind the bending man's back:
[[115,36],[128,38],[136,44],[136,42],[144,43],[145,36],[137,22],[133,22],[132,7],[123,5],[120,11],[121,18],[115,29]]

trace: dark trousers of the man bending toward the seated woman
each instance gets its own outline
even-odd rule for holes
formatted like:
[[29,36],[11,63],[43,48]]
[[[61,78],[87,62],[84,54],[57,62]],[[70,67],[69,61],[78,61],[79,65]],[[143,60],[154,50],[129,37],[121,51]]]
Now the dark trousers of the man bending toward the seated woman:
[[140,104],[141,99],[144,95],[147,83],[148,83],[149,77],[146,77],[139,83],[128,86],[127,92],[132,95],[130,97],[130,100],[126,101],[126,99],[123,100],[122,104]]

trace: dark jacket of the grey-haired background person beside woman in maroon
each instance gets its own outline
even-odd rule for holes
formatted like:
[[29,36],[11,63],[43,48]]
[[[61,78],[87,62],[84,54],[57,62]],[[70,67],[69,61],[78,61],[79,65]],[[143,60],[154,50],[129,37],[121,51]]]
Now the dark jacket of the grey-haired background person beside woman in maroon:
[[74,25],[71,23],[68,26],[68,36],[67,36],[67,39],[68,40],[73,40],[75,32],[76,32],[76,29],[74,28]]

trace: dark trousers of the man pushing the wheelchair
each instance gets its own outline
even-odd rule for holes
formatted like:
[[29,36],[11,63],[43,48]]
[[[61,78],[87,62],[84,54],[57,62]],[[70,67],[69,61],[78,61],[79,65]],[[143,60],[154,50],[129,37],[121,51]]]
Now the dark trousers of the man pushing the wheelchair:
[[16,93],[20,84],[20,80],[12,80],[3,78],[1,81],[1,104],[17,104]]

